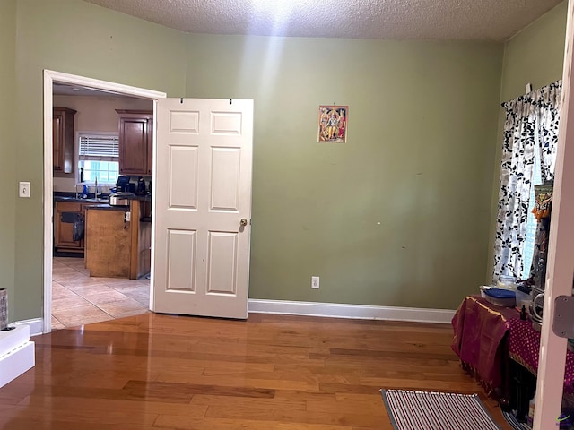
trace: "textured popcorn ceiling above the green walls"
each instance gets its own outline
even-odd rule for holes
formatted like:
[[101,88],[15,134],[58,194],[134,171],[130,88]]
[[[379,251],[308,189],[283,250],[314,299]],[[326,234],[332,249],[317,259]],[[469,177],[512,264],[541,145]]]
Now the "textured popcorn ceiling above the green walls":
[[562,0],[85,0],[189,33],[507,40]]

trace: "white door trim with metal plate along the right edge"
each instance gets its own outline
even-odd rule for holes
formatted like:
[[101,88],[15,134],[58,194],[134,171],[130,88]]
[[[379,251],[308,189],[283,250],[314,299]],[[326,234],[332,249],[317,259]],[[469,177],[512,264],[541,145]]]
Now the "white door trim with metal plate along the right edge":
[[548,242],[546,287],[544,288],[544,314],[541,330],[538,376],[536,383],[536,430],[557,426],[561,414],[566,362],[565,338],[552,330],[556,314],[556,299],[572,295],[574,271],[574,1],[570,0],[566,24],[564,64],[562,69],[562,105],[558,133],[558,152],[554,172],[552,220]]

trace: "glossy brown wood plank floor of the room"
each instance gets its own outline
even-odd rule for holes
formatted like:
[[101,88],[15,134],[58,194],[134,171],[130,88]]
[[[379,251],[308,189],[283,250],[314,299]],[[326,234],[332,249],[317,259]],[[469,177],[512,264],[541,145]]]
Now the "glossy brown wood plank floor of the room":
[[380,388],[482,395],[451,339],[449,325],[266,314],[63,329],[33,338],[36,366],[0,389],[0,428],[390,430]]

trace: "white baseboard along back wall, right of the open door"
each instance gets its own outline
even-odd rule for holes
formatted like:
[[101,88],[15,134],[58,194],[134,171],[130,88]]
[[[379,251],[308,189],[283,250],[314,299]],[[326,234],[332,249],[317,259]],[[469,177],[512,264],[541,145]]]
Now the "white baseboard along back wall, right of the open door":
[[457,311],[450,309],[344,305],[338,303],[291,302],[287,300],[261,300],[250,298],[248,301],[248,312],[255,314],[308,315],[361,320],[450,323]]

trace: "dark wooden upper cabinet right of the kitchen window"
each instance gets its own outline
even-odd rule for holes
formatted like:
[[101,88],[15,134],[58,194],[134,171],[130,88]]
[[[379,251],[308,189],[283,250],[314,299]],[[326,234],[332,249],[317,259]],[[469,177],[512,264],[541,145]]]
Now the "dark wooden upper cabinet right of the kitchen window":
[[153,112],[116,110],[119,115],[119,173],[152,175]]

